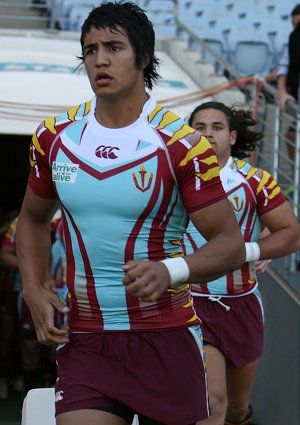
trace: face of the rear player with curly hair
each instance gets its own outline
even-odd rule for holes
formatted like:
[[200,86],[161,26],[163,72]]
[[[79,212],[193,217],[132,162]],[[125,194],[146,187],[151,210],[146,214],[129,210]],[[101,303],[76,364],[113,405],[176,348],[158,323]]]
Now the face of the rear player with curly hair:
[[225,114],[217,109],[198,111],[193,118],[192,127],[209,140],[220,167],[224,167],[236,140],[236,131],[229,131]]

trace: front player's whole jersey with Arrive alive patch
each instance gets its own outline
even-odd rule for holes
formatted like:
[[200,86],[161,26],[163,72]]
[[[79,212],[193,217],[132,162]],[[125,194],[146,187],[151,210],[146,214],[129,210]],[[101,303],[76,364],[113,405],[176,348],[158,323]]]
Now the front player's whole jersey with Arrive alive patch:
[[161,330],[198,323],[189,284],[155,302],[126,292],[129,260],[183,255],[188,213],[226,197],[204,137],[153,98],[125,128],[95,119],[95,100],[45,120],[29,184],[59,198],[72,331]]

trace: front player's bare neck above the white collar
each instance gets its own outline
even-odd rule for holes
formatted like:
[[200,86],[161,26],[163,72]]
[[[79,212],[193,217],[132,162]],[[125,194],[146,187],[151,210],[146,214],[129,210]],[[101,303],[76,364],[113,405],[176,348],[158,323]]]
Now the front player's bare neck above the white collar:
[[107,128],[122,128],[134,123],[140,116],[149,96],[144,91],[138,96],[98,98],[95,117],[99,124]]

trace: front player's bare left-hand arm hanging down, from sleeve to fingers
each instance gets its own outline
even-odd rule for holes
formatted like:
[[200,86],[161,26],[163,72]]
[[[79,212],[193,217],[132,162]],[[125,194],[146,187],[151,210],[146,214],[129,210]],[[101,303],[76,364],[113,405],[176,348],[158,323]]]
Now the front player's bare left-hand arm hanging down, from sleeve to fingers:
[[54,311],[68,312],[59,298],[43,287],[49,268],[50,223],[56,199],[37,196],[28,186],[16,230],[18,265],[23,295],[30,308],[38,340],[44,344],[68,342],[67,331],[54,326]]

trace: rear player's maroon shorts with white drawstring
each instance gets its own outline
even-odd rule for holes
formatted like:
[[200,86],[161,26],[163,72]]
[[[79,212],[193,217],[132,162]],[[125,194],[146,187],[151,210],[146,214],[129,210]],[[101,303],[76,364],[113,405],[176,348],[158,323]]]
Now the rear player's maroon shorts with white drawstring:
[[220,350],[233,366],[241,368],[261,357],[264,320],[259,292],[243,297],[223,297],[222,303],[194,297],[194,308],[202,320],[204,344]]

